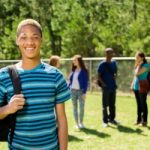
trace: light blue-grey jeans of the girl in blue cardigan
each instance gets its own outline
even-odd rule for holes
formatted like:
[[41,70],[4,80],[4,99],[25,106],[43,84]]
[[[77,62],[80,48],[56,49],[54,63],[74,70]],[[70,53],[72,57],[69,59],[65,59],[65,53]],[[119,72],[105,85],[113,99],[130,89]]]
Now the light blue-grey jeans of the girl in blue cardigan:
[[[72,96],[73,115],[74,115],[75,122],[77,124],[79,122],[83,123],[84,105],[85,105],[85,100],[82,97],[83,92],[81,90],[72,89],[71,96]],[[78,107],[78,105],[79,105],[79,107]]]

